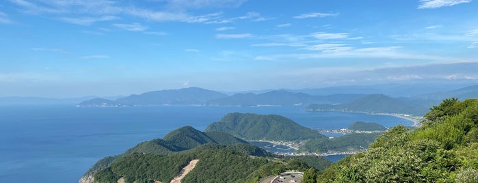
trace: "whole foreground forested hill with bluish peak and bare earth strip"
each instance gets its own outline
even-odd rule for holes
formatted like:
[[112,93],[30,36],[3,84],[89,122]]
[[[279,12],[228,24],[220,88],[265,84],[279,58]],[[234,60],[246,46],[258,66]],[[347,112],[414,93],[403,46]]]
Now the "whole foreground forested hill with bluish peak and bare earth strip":
[[200,132],[185,126],[163,139],[103,158],[90,172],[94,182],[116,182],[120,178],[125,182],[170,182],[194,159],[199,160],[198,164],[182,182],[258,182],[290,169],[321,170],[331,164],[322,157],[276,156],[226,132]]

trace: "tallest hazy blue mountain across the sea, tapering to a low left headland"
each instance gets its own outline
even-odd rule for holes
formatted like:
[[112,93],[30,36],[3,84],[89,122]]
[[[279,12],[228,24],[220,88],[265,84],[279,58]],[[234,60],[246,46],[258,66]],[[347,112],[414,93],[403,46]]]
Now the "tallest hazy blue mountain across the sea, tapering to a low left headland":
[[[146,92],[140,95],[131,95],[117,100],[109,101],[98,100],[85,101],[83,104],[86,106],[105,106],[111,105],[202,105],[206,104],[208,100],[216,98],[224,98],[226,94],[215,92],[208,89],[202,89],[199,87],[189,87],[183,89],[165,89],[155,92]],[[99,102],[99,103],[96,103]],[[79,104],[83,106],[82,104]]]

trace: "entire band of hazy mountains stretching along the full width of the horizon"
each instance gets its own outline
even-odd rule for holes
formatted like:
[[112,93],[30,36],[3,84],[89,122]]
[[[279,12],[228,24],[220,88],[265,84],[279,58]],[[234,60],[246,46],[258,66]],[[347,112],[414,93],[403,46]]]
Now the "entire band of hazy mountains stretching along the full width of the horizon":
[[[459,85],[459,84],[457,84]],[[233,94],[199,87],[167,89],[127,97],[28,98],[3,97],[0,105],[77,104],[78,107],[134,107],[155,105],[200,105],[217,107],[308,106],[310,111],[405,113],[422,115],[445,98],[478,98],[478,85],[445,89],[449,85],[371,85],[320,89],[265,90],[264,93]],[[371,92],[374,92],[371,94]],[[429,92],[429,93],[427,93]],[[415,95],[413,95],[415,94]],[[382,98],[380,98],[382,96]],[[311,105],[314,104],[314,105]],[[310,106],[309,106],[310,105]]]

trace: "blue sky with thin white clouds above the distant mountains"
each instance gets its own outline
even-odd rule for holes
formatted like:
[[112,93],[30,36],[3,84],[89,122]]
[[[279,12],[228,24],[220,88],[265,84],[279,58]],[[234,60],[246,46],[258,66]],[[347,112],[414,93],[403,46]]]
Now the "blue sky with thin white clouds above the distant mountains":
[[0,96],[478,83],[476,0],[0,1]]

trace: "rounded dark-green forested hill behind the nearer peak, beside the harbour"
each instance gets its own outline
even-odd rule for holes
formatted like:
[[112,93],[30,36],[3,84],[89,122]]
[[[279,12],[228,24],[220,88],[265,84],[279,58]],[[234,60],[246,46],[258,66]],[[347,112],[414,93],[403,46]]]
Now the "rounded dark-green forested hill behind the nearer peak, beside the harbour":
[[297,141],[326,139],[315,130],[300,126],[280,115],[229,113],[219,122],[207,126],[208,131],[228,132],[246,140]]

